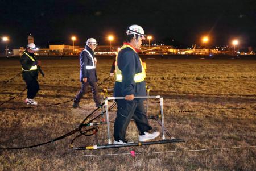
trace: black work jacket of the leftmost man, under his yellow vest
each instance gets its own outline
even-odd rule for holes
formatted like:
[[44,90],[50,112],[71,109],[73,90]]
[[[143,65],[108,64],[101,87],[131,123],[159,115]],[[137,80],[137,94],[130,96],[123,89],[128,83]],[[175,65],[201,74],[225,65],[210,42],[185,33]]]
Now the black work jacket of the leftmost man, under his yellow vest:
[[[22,56],[20,57],[20,64],[22,65],[22,68],[24,69],[22,72],[23,80],[38,79],[38,69],[37,70],[29,70],[32,66],[37,64],[37,60],[35,58],[34,53],[28,53],[27,50],[24,52],[26,52],[33,59],[35,59],[35,62],[33,62],[30,59],[30,57],[28,57],[25,53],[22,53]],[[26,71],[26,70],[29,70],[29,71]]]

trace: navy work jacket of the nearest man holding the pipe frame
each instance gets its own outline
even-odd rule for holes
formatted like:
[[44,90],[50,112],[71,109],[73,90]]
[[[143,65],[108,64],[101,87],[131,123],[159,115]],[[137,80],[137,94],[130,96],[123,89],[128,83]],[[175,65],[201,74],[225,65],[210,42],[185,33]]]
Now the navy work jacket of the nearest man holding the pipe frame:
[[[122,82],[115,81],[114,97],[125,97],[133,94],[134,96],[146,96],[145,81],[134,81],[134,76],[142,72],[141,61],[133,49],[127,47],[121,49],[117,56],[117,66],[122,71]],[[144,99],[134,99],[143,101]]]

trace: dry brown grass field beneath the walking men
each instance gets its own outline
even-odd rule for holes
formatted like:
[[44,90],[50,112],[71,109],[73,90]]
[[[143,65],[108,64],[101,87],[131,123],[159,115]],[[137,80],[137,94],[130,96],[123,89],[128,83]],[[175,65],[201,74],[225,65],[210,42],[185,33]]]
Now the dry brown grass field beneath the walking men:
[[[46,76],[39,76],[40,91],[33,109],[0,110],[1,147],[43,143],[72,131],[92,112],[92,94],[81,100],[44,107],[74,98],[80,88],[79,60],[41,59]],[[255,170],[256,168],[256,60],[242,59],[144,59],[150,95],[164,97],[165,125],[185,143],[75,151],[69,144],[75,135],[31,149],[0,150],[0,170]],[[109,76],[112,60],[98,58],[101,83]],[[0,84],[20,72],[18,60],[0,60]],[[112,88],[110,78],[101,88]],[[25,87],[21,77],[1,85],[0,103]],[[110,92],[109,95],[112,95]],[[0,108],[27,107],[26,91]],[[158,115],[150,101],[149,115]],[[110,120],[115,118],[110,112]],[[99,112],[97,112],[99,114]],[[101,121],[101,119],[98,119]],[[150,124],[160,131],[154,120]],[[111,125],[113,134],[113,124]],[[138,141],[134,123],[129,141]],[[168,136],[167,136],[168,138]],[[107,142],[106,126],[98,131]],[[160,140],[160,137],[157,139]],[[78,138],[74,145],[96,145],[94,136]],[[237,148],[238,147],[238,148]],[[129,153],[134,150],[137,155]],[[200,151],[194,151],[200,150]]]

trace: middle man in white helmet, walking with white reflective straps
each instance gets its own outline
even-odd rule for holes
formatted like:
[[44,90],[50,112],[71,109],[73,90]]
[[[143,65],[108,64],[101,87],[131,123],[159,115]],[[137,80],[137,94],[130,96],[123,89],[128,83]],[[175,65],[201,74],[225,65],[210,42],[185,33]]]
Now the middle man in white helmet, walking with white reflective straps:
[[82,82],[82,86],[74,99],[74,108],[79,107],[79,102],[82,96],[86,93],[86,89],[89,85],[92,87],[93,99],[96,107],[101,107],[101,98],[98,94],[98,79],[96,74],[97,60],[96,57],[94,57],[94,50],[97,45],[98,43],[94,38],[89,38],[86,41],[85,49],[80,54],[80,81]]

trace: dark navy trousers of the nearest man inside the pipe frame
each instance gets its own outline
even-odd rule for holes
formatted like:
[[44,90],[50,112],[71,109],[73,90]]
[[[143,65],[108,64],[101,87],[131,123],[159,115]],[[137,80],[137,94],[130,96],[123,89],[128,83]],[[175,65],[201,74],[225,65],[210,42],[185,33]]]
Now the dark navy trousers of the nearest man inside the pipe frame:
[[151,130],[148,119],[144,111],[144,104],[137,101],[117,100],[117,118],[114,124],[114,139],[125,140],[126,129],[131,118],[134,119],[139,130],[139,135],[144,135],[145,131]]

